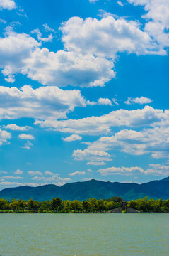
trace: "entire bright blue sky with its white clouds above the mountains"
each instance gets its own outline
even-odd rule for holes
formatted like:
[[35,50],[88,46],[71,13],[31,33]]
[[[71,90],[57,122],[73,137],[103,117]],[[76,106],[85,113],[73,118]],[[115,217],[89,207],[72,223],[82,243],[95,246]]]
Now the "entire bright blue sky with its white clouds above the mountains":
[[0,0],[0,189],[169,176],[168,0]]

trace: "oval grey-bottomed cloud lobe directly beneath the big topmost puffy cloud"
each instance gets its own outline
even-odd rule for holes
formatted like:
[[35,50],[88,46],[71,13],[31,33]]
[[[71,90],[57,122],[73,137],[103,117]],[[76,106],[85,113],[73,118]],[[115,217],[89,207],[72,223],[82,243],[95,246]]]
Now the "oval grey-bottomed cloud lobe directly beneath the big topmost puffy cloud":
[[109,60],[74,51],[53,53],[37,48],[24,63],[28,78],[42,85],[95,87],[115,77],[114,64]]

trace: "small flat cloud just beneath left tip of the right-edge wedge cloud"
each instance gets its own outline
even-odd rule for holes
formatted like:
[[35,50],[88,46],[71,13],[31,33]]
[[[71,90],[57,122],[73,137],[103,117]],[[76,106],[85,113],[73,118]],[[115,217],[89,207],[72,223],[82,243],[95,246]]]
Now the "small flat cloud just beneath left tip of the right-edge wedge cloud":
[[78,161],[112,161],[112,156],[105,151],[90,150],[90,149],[77,149],[74,150],[73,156]]

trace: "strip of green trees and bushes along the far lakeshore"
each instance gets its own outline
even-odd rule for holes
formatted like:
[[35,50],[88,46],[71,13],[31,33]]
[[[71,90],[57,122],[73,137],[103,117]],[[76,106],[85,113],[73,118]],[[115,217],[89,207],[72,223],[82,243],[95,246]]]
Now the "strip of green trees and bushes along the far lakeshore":
[[[47,201],[28,201],[12,199],[8,201],[0,198],[0,213],[111,213],[111,210],[121,207],[122,198],[114,196],[108,199],[89,198],[86,201],[62,201],[61,198],[52,198]],[[169,213],[168,200],[154,200],[139,198],[127,203],[127,208],[137,210],[139,213]],[[126,209],[122,209],[125,213]]]

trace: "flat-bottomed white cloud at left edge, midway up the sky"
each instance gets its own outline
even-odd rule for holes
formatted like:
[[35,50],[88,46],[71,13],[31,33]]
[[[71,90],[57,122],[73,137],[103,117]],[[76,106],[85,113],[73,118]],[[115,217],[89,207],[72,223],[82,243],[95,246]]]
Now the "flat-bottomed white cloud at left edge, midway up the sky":
[[86,106],[86,100],[79,90],[62,90],[49,86],[34,90],[28,85],[20,90],[0,86],[0,102],[0,119],[66,118],[66,114],[73,111],[74,107]]

